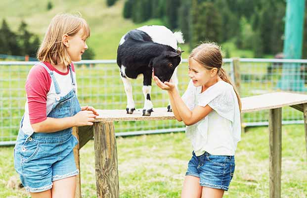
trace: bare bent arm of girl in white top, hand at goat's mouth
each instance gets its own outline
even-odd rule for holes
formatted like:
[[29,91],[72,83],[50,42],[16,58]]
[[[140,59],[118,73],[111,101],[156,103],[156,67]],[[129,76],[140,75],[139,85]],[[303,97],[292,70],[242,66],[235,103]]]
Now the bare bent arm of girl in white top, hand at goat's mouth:
[[[192,111],[185,105],[181,99],[178,91],[175,89],[173,83],[164,82],[162,83],[158,77],[153,76],[155,83],[163,90],[167,90],[170,96],[171,104],[173,102],[172,109],[174,111],[175,117],[181,118],[185,125],[189,126],[195,124],[199,120],[206,117],[211,111],[212,108],[209,105],[196,106]],[[174,108],[175,107],[175,108]],[[176,115],[176,114],[177,115]],[[177,120],[180,120],[176,117]]]

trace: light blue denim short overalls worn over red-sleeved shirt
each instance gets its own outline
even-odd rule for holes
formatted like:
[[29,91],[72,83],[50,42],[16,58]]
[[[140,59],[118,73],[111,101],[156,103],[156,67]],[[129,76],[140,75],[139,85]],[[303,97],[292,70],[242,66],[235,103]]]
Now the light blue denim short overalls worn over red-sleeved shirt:
[[[60,87],[55,80],[53,71],[44,65],[48,71],[57,94],[56,101],[47,117],[64,118],[78,113],[81,108],[76,96],[75,79],[71,66],[69,71],[73,90],[66,96],[60,97]],[[28,192],[43,192],[52,188],[55,180],[79,174],[74,160],[73,148],[78,140],[72,135],[72,128],[54,133],[33,133],[26,135],[21,130],[14,148],[14,166],[20,176],[21,183]]]

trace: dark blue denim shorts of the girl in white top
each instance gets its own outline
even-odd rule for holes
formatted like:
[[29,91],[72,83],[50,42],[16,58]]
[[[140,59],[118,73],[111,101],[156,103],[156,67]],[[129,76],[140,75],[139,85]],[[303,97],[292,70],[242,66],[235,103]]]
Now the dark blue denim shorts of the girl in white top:
[[234,156],[208,152],[196,156],[194,151],[192,154],[185,175],[198,177],[200,186],[228,191],[235,167]]

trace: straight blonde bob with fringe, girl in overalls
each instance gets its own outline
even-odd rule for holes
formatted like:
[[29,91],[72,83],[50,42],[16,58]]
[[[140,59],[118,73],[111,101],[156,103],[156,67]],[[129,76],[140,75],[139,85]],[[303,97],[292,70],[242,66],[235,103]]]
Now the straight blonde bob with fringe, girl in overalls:
[[83,29],[82,37],[87,39],[90,35],[90,29],[88,23],[81,18],[80,14],[57,14],[48,26],[44,40],[37,52],[37,58],[41,62],[69,65],[71,59],[63,44],[63,35],[74,36],[81,29]]

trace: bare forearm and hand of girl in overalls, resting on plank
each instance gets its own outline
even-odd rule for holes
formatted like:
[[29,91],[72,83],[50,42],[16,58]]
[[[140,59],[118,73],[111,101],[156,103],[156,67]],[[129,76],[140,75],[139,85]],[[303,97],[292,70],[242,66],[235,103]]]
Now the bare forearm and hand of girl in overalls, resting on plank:
[[61,131],[75,126],[90,126],[93,125],[97,111],[91,106],[81,107],[76,115],[65,118],[50,118],[47,117],[42,122],[31,124],[32,129],[38,133],[52,133]]

